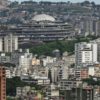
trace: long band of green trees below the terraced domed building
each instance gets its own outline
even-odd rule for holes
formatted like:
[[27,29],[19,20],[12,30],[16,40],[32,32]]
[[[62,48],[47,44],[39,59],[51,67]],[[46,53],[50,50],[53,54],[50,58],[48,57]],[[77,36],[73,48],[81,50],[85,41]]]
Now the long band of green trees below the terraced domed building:
[[30,49],[30,52],[33,54],[38,55],[50,55],[52,56],[52,51],[55,49],[59,49],[61,51],[61,54],[65,51],[69,53],[74,52],[74,45],[78,42],[89,42],[90,40],[96,39],[94,36],[88,36],[88,37],[77,37],[75,40],[63,40],[63,41],[54,41],[50,43],[45,43],[40,46],[32,47]]

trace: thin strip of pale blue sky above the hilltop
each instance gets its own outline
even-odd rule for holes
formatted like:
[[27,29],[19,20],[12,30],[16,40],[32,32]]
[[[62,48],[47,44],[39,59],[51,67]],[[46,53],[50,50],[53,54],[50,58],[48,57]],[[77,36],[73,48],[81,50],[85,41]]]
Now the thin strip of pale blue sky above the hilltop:
[[[10,1],[28,1],[28,0],[10,0]],[[86,0],[33,0],[33,1],[71,1],[71,2],[82,2],[82,1],[86,1]],[[96,4],[100,4],[100,0],[89,0],[89,1],[94,1]]]

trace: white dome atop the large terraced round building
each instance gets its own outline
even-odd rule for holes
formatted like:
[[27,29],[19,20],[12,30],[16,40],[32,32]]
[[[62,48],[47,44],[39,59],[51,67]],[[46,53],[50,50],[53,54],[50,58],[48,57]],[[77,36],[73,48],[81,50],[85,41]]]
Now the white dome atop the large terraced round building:
[[46,14],[40,14],[40,15],[36,15],[32,18],[33,21],[51,21],[51,22],[54,22],[55,21],[55,18],[53,18],[52,16],[50,15],[46,15]]

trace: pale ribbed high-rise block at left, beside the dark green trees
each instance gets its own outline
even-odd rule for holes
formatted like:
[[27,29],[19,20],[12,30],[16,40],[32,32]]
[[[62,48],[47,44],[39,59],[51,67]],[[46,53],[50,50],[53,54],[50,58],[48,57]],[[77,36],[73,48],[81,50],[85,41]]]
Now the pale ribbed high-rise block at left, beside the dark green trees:
[[12,34],[9,34],[4,37],[4,51],[13,52],[18,50],[18,37]]

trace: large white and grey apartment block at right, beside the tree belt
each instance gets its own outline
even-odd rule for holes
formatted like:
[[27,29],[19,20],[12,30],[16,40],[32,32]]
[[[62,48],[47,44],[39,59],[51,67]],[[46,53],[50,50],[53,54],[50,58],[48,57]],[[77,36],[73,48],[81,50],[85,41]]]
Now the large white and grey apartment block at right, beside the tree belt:
[[75,44],[76,66],[86,66],[97,63],[97,44],[96,43],[77,43]]

